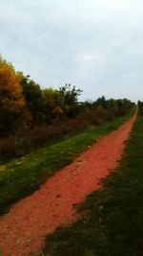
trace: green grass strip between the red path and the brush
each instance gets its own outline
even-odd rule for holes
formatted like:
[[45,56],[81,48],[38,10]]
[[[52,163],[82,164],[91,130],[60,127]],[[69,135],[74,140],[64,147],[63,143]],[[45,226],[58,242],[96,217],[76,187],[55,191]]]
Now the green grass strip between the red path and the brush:
[[72,162],[72,159],[102,134],[124,123],[127,116],[98,128],[88,128],[52,146],[33,151],[25,157],[0,166],[0,214],[10,205],[34,192],[57,170]]

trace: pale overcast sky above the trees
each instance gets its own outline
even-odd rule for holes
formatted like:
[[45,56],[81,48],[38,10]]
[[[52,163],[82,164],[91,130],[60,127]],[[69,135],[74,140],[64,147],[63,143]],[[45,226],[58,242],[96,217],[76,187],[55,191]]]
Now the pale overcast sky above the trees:
[[143,1],[0,0],[0,54],[42,87],[143,100]]

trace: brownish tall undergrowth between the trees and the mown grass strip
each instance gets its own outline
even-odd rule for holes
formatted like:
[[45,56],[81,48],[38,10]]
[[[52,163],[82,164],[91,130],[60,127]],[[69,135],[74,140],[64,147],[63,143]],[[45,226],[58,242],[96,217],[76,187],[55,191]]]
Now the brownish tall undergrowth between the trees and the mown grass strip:
[[[22,127],[14,134],[0,140],[0,163],[6,163],[14,158],[22,157],[31,151],[51,145],[65,137],[78,134],[92,126],[102,126],[107,121],[113,121],[117,117],[112,115],[108,118],[98,115],[95,110],[83,111],[80,117],[75,119],[55,119],[51,124],[41,124],[38,127]],[[133,111],[133,108],[132,110]],[[110,111],[109,114],[112,114]],[[125,114],[125,113],[124,113]],[[125,115],[126,116],[126,115]]]

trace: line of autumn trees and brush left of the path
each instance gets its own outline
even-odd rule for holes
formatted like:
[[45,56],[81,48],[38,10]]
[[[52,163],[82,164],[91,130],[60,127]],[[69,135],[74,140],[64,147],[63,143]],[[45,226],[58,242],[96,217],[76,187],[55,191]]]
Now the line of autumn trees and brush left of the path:
[[127,99],[78,102],[81,89],[66,84],[43,89],[0,58],[0,155],[7,159],[51,143],[90,125],[126,114]]

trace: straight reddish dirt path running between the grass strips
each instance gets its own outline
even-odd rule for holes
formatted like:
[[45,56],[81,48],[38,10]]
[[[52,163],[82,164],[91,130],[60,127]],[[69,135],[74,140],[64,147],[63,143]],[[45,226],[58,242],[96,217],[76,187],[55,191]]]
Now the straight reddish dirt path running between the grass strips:
[[45,235],[74,221],[75,205],[101,185],[99,180],[117,167],[133,128],[135,115],[117,130],[101,137],[71,165],[51,176],[38,191],[0,218],[2,255],[28,256],[44,244]]

